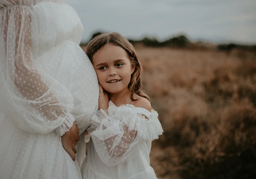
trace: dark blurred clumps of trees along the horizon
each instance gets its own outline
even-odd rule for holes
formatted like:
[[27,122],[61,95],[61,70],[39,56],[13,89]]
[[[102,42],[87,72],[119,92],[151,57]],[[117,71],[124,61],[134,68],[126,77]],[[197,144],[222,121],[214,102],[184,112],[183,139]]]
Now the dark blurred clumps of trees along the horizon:
[[[94,33],[90,40],[92,40],[94,37],[96,37],[102,33],[103,32]],[[197,47],[196,43],[190,42],[190,40],[185,35],[178,35],[178,36],[172,37],[168,40],[165,40],[163,42],[159,42],[156,38],[149,38],[149,37],[145,37],[141,40],[134,40],[134,39],[128,39],[128,40],[133,45],[142,44],[143,46],[146,46],[146,47],[170,47],[170,48],[191,48],[191,47],[193,47],[194,49]],[[217,45],[217,50],[220,50],[220,51],[231,51],[233,49],[242,49],[242,50],[246,50],[246,51],[255,51],[256,52],[256,45],[239,45],[239,44],[235,44],[235,43]]]

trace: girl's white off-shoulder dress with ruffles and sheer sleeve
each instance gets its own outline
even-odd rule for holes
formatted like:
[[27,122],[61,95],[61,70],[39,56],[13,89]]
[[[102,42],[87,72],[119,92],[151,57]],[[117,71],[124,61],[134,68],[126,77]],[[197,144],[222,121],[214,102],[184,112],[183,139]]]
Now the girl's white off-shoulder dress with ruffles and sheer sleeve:
[[158,113],[133,105],[100,109],[92,117],[83,179],[156,179],[149,165],[151,141],[162,134]]

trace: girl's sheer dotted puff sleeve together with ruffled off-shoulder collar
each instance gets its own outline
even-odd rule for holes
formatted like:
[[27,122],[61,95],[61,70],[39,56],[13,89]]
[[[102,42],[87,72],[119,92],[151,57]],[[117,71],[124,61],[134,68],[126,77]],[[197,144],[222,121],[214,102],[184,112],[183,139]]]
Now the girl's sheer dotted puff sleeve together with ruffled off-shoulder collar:
[[141,144],[162,134],[157,116],[157,112],[132,105],[116,107],[110,103],[107,111],[100,109],[89,129],[100,159],[107,166],[115,166],[136,157]]

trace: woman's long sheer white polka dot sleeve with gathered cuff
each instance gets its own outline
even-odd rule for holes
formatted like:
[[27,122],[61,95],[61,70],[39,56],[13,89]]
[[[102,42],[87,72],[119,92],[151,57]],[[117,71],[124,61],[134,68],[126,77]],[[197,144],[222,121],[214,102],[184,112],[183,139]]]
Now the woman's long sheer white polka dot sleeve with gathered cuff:
[[69,113],[73,98],[36,62],[39,37],[33,0],[4,2],[0,3],[1,109],[25,131],[44,134],[56,129],[62,136],[75,121]]

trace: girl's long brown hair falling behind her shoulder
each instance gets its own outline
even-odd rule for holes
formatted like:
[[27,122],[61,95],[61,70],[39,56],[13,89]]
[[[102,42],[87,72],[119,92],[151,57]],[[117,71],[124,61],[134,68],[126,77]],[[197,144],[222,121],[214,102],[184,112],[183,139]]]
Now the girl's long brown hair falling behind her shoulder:
[[91,62],[93,63],[92,58],[94,54],[100,49],[102,49],[106,44],[113,44],[123,48],[126,51],[132,66],[135,67],[134,72],[131,76],[131,81],[128,84],[128,90],[132,101],[135,101],[133,97],[134,93],[139,95],[140,97],[144,97],[149,100],[148,95],[146,95],[141,89],[142,66],[140,64],[140,60],[132,44],[123,35],[114,32],[110,34],[104,33],[94,37],[88,43],[85,51],[86,55],[91,60]]

